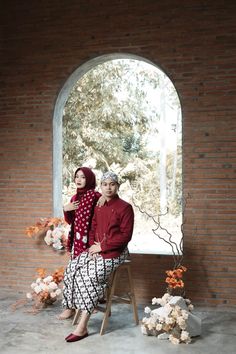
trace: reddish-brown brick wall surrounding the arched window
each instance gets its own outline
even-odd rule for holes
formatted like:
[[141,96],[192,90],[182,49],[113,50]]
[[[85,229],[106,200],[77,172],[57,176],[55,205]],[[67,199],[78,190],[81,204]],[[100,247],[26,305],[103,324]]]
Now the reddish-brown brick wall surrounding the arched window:
[[[235,305],[236,3],[193,0],[16,1],[1,6],[2,288],[25,292],[35,268],[67,258],[24,235],[52,215],[52,116],[69,75],[102,54],[162,68],[183,109],[187,295]],[[162,295],[167,256],[133,255],[138,301]]]

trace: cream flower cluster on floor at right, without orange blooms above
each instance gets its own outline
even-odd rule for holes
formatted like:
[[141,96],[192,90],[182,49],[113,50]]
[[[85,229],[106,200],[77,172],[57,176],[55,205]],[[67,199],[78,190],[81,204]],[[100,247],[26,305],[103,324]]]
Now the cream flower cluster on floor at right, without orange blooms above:
[[[158,336],[159,339],[169,339],[173,344],[190,343],[191,334],[188,331],[188,319],[191,315],[193,305],[189,299],[183,299],[180,296],[171,296],[166,293],[162,298],[153,298],[152,305],[161,307],[151,310],[145,307],[144,312],[147,314],[142,319],[141,331],[146,335]],[[199,335],[198,331],[195,335]],[[193,334],[193,333],[192,333]]]

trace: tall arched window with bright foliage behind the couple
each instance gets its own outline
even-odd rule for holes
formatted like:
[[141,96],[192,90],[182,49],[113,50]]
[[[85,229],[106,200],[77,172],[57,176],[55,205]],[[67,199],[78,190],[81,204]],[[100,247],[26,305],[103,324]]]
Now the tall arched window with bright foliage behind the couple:
[[155,64],[131,54],[104,55],[68,78],[53,119],[56,216],[82,165],[98,180],[107,169],[120,176],[119,194],[136,215],[131,252],[172,253],[162,239],[171,234],[178,245],[182,236],[182,116],[174,85]]

